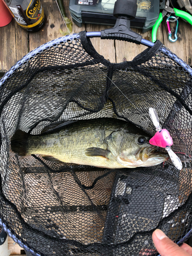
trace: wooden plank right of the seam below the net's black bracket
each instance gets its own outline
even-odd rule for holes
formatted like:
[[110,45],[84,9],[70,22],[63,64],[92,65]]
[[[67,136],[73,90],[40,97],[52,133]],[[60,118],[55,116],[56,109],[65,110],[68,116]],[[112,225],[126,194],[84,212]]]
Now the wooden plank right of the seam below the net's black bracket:
[[[152,31],[147,31],[145,33],[141,33],[141,29],[131,28],[133,31],[142,35],[142,38],[152,41]],[[159,26],[157,31],[157,39],[163,42],[162,35],[162,25]],[[119,41],[115,40],[115,50],[116,50],[116,61],[117,63],[123,61],[131,61],[133,60],[139,53],[144,51],[147,47],[143,45],[136,45],[132,42]]]

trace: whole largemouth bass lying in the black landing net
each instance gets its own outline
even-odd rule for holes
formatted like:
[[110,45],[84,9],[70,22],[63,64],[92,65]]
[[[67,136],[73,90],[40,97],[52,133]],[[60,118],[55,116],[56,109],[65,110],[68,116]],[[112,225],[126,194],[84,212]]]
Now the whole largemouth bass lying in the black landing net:
[[[60,127],[61,125],[59,125]],[[149,144],[150,136],[115,118],[79,120],[41,135],[17,130],[11,149],[20,156],[38,154],[56,162],[103,168],[153,166],[168,159]]]

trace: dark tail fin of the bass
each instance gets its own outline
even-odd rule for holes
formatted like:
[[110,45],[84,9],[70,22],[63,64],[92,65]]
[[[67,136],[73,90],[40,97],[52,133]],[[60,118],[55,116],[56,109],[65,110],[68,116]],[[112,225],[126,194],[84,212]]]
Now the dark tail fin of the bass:
[[11,150],[19,156],[26,156],[28,138],[28,133],[17,130],[11,138]]

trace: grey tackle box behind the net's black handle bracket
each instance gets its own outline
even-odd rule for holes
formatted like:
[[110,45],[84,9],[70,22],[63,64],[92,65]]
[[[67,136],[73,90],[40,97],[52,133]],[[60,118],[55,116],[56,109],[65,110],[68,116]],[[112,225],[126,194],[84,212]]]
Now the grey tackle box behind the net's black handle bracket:
[[[70,0],[69,10],[73,22],[79,27],[86,23],[114,26],[115,2],[116,0]],[[164,5],[165,0],[137,0],[137,13],[131,20],[131,27],[140,28],[143,33],[150,30]]]

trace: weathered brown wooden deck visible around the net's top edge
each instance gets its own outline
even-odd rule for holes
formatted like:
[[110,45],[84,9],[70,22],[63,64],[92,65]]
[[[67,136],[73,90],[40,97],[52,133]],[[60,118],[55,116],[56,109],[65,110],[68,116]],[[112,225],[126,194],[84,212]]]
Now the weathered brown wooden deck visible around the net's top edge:
[[[56,2],[53,0],[41,0],[41,4],[46,14],[46,25],[40,31],[29,33],[20,28],[14,19],[9,25],[0,28],[0,72],[8,71],[16,61],[36,47],[62,36],[59,29],[67,31]],[[63,0],[63,4],[68,17],[70,17],[69,0]],[[170,23],[170,27],[174,31],[175,24]],[[83,30],[87,30],[88,32],[100,31],[105,28],[108,28],[108,26],[87,24],[82,25],[82,27],[79,28],[73,24],[73,33]],[[141,33],[144,39],[152,40],[151,30],[144,34],[141,29],[133,30]],[[192,26],[190,24],[179,19],[178,40],[172,43],[168,40],[166,18],[164,17],[157,32],[157,39],[161,40],[166,47],[176,53],[189,65],[192,64]],[[123,59],[132,60],[146,48],[142,45],[118,40],[101,40],[100,38],[93,38],[92,42],[97,52],[111,62],[122,62]]]

